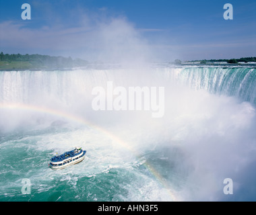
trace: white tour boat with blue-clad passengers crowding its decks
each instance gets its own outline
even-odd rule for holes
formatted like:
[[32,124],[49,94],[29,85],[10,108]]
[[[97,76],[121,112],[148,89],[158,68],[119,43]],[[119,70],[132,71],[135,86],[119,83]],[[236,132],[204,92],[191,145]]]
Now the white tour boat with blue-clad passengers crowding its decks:
[[73,150],[51,158],[49,167],[51,167],[51,169],[64,169],[65,167],[83,161],[85,157],[86,150],[82,150],[81,147],[75,147]]

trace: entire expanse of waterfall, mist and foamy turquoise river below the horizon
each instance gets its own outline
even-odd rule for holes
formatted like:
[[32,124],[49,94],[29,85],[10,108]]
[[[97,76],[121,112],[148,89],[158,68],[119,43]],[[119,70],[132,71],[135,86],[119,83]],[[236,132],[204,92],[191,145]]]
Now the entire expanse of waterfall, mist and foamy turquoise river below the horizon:
[[[164,87],[164,117],[92,110],[107,81]],[[1,201],[255,200],[256,69],[10,71],[0,92]],[[82,163],[48,168],[78,145]]]

